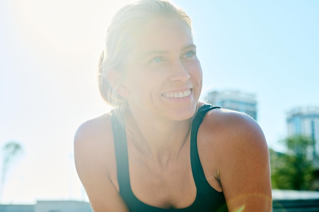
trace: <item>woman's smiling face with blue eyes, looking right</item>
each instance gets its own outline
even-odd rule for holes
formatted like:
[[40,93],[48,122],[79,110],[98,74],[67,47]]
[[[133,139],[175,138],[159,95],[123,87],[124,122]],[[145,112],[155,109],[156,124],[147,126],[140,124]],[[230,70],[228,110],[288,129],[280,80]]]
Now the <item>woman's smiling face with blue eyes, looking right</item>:
[[201,93],[202,70],[188,27],[179,20],[155,19],[133,40],[123,81],[131,112],[191,118]]

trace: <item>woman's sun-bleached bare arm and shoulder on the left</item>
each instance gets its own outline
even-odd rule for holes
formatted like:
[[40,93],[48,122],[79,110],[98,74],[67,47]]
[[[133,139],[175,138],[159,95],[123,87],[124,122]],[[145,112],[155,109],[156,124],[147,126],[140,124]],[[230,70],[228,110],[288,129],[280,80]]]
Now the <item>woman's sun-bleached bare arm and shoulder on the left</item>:
[[116,163],[110,129],[102,118],[79,127],[74,137],[75,166],[94,212],[128,212],[111,179]]

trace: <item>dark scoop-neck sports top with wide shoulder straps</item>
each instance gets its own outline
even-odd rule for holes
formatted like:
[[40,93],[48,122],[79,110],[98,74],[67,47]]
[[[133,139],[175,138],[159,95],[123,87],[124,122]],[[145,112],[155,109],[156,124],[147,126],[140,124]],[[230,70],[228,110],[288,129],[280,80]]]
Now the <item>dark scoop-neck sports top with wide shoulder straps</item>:
[[117,179],[120,195],[128,206],[130,212],[228,212],[223,192],[212,188],[206,178],[200,163],[197,149],[197,132],[205,114],[215,108],[209,104],[202,105],[192,122],[191,128],[191,166],[197,189],[195,201],[185,208],[159,208],[147,205],[140,201],[132,192],[129,180],[128,155],[126,132],[116,116],[112,117],[115,156],[117,163]]

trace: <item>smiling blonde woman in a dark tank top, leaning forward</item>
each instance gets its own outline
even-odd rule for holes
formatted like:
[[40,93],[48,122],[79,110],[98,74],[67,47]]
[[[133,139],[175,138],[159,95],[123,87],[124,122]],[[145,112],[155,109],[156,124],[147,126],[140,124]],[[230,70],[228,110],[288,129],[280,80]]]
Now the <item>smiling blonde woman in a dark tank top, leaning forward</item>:
[[199,102],[191,20],[165,0],[122,8],[99,85],[115,109],[76,132],[95,212],[271,211],[268,146],[249,116]]

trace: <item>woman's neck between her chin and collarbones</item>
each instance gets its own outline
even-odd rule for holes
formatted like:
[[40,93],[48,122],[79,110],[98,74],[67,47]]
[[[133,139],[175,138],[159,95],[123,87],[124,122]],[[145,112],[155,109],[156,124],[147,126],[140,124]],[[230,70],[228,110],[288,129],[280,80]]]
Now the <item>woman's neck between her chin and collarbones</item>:
[[125,115],[130,139],[138,151],[158,163],[176,159],[189,140],[191,119],[164,120],[149,115]]

